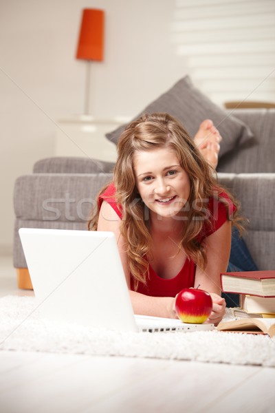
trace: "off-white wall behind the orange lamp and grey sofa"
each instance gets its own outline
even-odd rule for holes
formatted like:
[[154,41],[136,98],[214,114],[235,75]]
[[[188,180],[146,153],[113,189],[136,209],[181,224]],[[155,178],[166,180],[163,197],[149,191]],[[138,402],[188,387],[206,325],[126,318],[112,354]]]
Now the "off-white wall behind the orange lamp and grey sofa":
[[[207,3],[210,6],[206,7]],[[227,22],[227,34],[223,32],[221,36],[218,32],[218,42],[213,41],[217,40],[217,32],[210,29],[213,19],[219,23],[224,10],[230,7],[233,26],[236,15],[241,12],[247,16],[252,6],[258,8],[263,25],[267,17],[259,12],[259,7],[267,8],[270,19],[275,2],[242,0],[240,3],[241,9],[236,0],[0,0],[2,251],[12,246],[14,180],[30,173],[36,160],[53,155],[56,119],[83,112],[85,63],[74,58],[81,10],[102,8],[106,12],[104,62],[93,63],[91,67],[91,112],[98,118],[113,118],[140,112],[187,73],[217,103],[231,96],[248,96],[253,85],[259,84],[259,76],[263,78],[266,73],[261,72],[261,62],[267,61],[274,67],[274,52],[270,54],[270,47],[275,36],[267,31],[261,34],[269,57],[257,59],[258,78],[252,78],[240,96],[243,72],[239,78],[233,76],[236,94],[234,83],[230,84],[230,90],[228,86],[221,89],[222,83],[228,85],[230,73],[236,73],[234,68],[231,72],[227,70],[223,78],[225,65],[232,63],[232,43],[229,55],[221,47],[221,41],[232,33],[230,24]],[[211,15],[213,23],[209,28],[211,10],[215,14]],[[208,36],[207,30],[210,30]],[[234,42],[238,41],[234,36]],[[223,59],[219,59],[220,54]],[[243,56],[242,59],[244,67],[252,73],[255,56],[250,53],[249,66]],[[223,64],[217,65],[218,61]],[[234,62],[236,66],[235,56]],[[219,93],[213,78],[219,80]],[[268,92],[263,90],[259,94],[262,100],[270,100],[270,91],[275,91],[274,76],[268,79],[272,83],[263,88]]]

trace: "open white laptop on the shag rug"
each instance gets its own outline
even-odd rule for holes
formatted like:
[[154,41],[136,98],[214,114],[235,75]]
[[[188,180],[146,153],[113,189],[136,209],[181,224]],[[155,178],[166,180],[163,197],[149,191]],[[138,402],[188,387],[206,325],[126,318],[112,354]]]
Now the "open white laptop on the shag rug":
[[21,228],[19,235],[37,306],[45,318],[133,332],[214,328],[134,315],[111,232]]

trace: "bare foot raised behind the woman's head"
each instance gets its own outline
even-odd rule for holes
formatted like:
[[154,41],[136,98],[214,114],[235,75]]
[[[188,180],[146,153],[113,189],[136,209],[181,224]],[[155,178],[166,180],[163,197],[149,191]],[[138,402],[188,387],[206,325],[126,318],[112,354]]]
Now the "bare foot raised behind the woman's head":
[[205,158],[214,169],[216,169],[218,165],[219,142],[221,142],[221,139],[218,129],[214,127],[210,119],[201,122],[194,138],[195,145],[199,148],[199,151],[201,151],[203,158]]

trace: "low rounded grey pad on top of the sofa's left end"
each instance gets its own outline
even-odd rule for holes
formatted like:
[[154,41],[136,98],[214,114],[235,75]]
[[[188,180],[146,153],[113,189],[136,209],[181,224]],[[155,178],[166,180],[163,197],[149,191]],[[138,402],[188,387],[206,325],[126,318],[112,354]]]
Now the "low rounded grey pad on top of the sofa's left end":
[[113,171],[113,162],[75,157],[52,157],[37,161],[34,173],[109,173]]

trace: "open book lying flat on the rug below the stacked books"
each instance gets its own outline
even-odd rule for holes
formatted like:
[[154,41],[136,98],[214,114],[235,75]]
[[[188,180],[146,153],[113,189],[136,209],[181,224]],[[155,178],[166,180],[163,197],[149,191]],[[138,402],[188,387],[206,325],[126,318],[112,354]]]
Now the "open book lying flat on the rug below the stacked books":
[[245,318],[221,321],[217,326],[220,331],[262,332],[270,337],[275,335],[275,318]]

